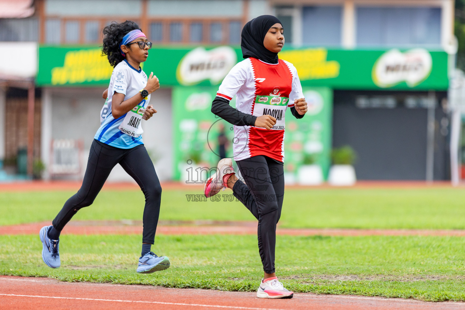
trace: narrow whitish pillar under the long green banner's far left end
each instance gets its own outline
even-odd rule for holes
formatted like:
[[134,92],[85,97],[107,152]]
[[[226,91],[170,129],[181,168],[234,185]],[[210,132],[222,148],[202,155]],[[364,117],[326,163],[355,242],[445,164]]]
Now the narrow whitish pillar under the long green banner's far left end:
[[50,179],[50,145],[52,143],[52,95],[50,89],[42,89],[42,115],[40,120],[40,159],[45,165],[43,178]]

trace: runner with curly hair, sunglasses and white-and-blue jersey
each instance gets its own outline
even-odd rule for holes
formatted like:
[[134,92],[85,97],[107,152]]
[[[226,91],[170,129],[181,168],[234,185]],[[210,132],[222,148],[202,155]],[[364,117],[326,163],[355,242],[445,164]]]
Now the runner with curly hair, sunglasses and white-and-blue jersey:
[[81,208],[97,197],[113,167],[120,164],[144,192],[142,251],[138,273],[152,273],[169,268],[168,257],[158,257],[151,251],[157,229],[161,186],[152,160],[142,141],[142,119],[156,113],[149,105],[150,94],[160,84],[153,73],[147,78],[140,68],[146,61],[152,43],[133,21],[112,23],[103,29],[102,53],[114,67],[108,97],[100,112],[100,128],[94,136],[86,173],[80,190],[69,198],[50,226],[44,226],[39,236],[42,259],[52,268],[60,267],[58,250],[60,232]]

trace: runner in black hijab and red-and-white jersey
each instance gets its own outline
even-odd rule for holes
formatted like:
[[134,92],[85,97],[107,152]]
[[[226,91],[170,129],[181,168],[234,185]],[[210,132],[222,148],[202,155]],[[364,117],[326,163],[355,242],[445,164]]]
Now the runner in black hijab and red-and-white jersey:
[[[295,67],[278,58],[284,45],[281,22],[272,15],[249,21],[242,29],[245,60],[219,86],[212,112],[234,125],[234,159],[245,183],[235,176],[231,158],[221,159],[207,180],[206,197],[229,187],[258,219],[259,253],[265,276],[257,297],[292,298],[275,274],[276,224],[284,198],[284,131],[287,107],[301,119],[307,112]],[[229,101],[236,96],[236,107]]]

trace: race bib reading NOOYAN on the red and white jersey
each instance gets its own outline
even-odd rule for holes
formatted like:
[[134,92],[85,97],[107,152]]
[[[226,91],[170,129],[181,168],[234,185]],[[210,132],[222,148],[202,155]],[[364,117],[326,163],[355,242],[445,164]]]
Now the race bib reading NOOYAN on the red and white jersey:
[[271,115],[276,119],[276,124],[271,129],[284,130],[284,118],[288,102],[289,98],[287,97],[257,96],[253,105],[252,115]]

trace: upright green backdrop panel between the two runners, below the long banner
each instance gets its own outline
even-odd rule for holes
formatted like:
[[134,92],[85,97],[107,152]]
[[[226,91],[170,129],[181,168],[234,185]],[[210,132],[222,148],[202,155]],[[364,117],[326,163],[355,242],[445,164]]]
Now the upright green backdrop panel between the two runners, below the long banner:
[[[233,156],[233,125],[210,111],[217,91],[217,87],[211,86],[173,87],[173,178],[175,180],[187,183],[206,180],[206,169],[216,167],[220,159],[221,131],[228,141],[226,157]],[[235,107],[235,99],[230,104]]]

